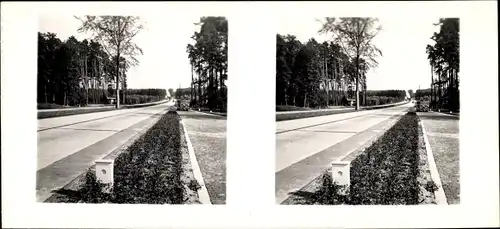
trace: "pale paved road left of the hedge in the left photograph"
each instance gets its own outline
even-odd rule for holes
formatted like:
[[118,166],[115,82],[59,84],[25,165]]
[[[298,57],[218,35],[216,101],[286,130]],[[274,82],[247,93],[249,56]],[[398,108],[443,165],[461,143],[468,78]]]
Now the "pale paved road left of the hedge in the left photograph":
[[37,200],[69,183],[171,105],[38,120]]

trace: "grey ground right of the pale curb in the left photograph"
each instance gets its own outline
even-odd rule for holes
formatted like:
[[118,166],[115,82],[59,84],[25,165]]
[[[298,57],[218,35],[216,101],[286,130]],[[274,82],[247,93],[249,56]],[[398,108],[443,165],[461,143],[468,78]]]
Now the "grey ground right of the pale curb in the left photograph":
[[226,117],[195,111],[181,116],[212,204],[226,203]]

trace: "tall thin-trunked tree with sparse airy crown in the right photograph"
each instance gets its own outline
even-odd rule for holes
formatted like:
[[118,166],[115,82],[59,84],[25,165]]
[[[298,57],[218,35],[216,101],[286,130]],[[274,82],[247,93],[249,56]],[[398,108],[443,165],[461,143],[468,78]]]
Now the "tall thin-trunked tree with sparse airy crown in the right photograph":
[[356,110],[359,109],[360,59],[364,59],[369,67],[378,65],[375,59],[382,56],[382,51],[373,43],[381,26],[376,18],[325,18],[319,33],[332,33],[335,43],[342,47],[355,65],[356,78]]

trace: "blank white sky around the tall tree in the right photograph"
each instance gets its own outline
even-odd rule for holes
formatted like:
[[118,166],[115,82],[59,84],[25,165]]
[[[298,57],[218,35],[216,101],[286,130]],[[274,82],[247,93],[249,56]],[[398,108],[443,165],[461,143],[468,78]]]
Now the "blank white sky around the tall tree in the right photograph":
[[[322,19],[322,18],[317,18]],[[382,50],[379,66],[367,74],[368,90],[429,88],[430,66],[425,53],[430,37],[438,30],[438,18],[379,18],[382,31],[373,43]],[[318,42],[331,35],[318,35],[321,23],[316,18],[287,17],[278,23],[278,33],[295,35],[301,42],[314,37]]]

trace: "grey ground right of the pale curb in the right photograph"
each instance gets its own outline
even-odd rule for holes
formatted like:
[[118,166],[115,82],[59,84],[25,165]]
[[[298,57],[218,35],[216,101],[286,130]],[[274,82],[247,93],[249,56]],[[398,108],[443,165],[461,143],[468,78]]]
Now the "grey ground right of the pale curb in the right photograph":
[[429,139],[448,204],[460,203],[459,116],[417,113]]

